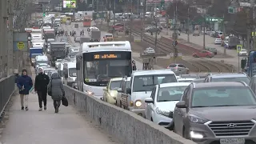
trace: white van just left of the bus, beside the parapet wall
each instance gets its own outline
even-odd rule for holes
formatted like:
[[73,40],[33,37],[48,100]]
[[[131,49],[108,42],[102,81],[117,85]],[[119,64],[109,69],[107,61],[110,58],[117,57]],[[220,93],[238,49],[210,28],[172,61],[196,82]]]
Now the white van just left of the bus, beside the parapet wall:
[[77,78],[76,62],[66,62],[63,66],[63,82],[67,86],[72,86]]

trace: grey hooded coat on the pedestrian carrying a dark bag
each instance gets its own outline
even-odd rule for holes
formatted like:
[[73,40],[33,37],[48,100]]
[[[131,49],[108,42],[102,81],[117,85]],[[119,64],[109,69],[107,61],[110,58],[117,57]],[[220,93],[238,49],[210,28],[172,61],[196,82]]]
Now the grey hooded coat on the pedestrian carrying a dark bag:
[[48,90],[52,91],[52,96],[53,100],[61,100],[62,97],[65,95],[65,91],[63,88],[62,80],[58,73],[54,73],[51,75],[51,80],[48,85]]

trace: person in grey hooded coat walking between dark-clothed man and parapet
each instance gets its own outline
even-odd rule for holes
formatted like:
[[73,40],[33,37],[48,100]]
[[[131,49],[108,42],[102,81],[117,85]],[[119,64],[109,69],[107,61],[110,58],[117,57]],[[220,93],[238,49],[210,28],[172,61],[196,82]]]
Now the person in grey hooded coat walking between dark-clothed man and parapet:
[[51,75],[51,80],[48,85],[48,95],[54,100],[55,113],[58,113],[62,98],[65,97],[62,80],[58,73],[53,73]]

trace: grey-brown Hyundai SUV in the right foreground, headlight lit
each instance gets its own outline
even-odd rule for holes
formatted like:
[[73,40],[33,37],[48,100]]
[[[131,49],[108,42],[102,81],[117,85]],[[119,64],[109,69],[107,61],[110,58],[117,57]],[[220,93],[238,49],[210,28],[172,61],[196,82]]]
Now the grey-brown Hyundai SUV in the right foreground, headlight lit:
[[256,98],[246,82],[193,82],[173,116],[174,132],[200,144],[256,142]]

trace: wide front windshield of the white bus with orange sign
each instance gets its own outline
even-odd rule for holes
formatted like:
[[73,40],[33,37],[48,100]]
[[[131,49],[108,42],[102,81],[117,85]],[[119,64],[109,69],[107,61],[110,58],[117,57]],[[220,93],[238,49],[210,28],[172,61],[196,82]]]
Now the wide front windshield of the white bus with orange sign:
[[93,52],[83,54],[84,82],[90,86],[106,86],[110,78],[130,77],[131,52]]

